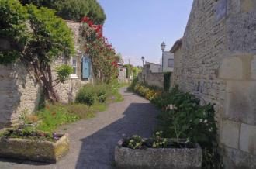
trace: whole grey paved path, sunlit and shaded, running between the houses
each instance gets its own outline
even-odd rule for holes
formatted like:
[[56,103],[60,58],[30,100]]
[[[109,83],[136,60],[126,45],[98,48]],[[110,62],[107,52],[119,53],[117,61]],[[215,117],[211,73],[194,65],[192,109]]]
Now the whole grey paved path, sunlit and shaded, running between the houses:
[[64,126],[69,133],[70,152],[57,164],[38,164],[0,158],[0,169],[109,169],[114,147],[123,134],[151,136],[157,110],[146,99],[121,89],[124,101],[113,103],[93,119]]

